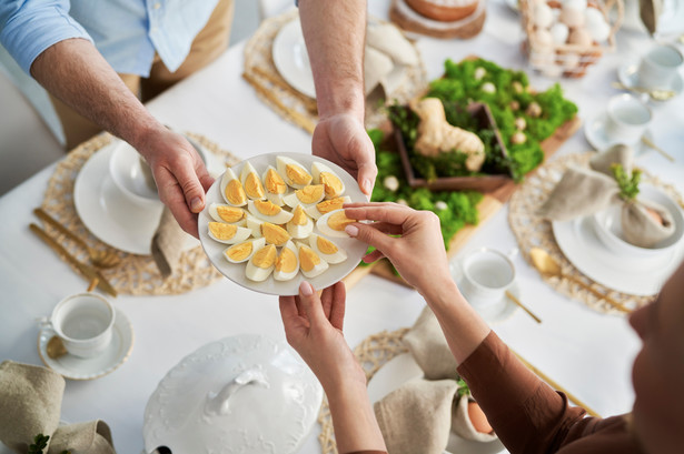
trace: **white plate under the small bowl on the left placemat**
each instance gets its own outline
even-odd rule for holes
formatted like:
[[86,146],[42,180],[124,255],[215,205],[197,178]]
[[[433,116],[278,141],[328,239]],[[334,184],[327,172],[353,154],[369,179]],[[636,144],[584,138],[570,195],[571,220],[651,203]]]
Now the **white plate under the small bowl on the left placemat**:
[[73,185],[73,204],[83,224],[103,243],[131,254],[149,255],[163,205],[160,202],[142,208],[117,188],[109,174],[116,145],[102,148],[83,164]]

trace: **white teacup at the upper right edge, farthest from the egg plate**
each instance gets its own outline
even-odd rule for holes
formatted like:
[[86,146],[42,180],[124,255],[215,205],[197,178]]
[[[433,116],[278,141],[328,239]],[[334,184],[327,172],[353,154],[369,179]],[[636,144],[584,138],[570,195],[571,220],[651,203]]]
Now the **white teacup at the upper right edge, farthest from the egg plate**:
[[647,89],[671,89],[672,81],[684,64],[684,56],[674,46],[655,46],[638,65],[638,83]]

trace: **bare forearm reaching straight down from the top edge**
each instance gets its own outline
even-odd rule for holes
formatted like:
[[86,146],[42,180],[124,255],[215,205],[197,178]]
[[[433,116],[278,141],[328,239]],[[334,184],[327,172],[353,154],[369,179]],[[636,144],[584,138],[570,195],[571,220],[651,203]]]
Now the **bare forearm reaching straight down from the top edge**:
[[320,118],[354,112],[363,120],[366,0],[299,0],[299,16]]

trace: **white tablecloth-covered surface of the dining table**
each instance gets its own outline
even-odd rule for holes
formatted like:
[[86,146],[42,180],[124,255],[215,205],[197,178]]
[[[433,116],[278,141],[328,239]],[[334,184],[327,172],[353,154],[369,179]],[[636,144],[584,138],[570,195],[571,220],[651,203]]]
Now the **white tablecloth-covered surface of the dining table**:
[[[369,14],[387,19],[389,4],[389,0],[369,1]],[[428,80],[442,75],[446,59],[480,56],[504,68],[526,71],[531,84],[539,90],[561,83],[565,97],[577,104],[582,120],[604,111],[608,99],[621,92],[611,82],[616,80],[624,59],[641,56],[655,43],[643,31],[623,29],[616,34],[616,49],[606,51],[585,77],[547,78],[529,68],[521,51],[524,32],[519,14],[504,0],[488,2],[484,29],[472,39],[410,38],[415,39]],[[272,152],[310,153],[311,135],[271,110],[242,78],[244,50],[244,41],[232,44],[208,67],[150,101],[148,110],[163,124],[201,134],[239,159]],[[637,164],[684,193],[684,98],[653,103],[651,108],[654,141],[674,162],[653,151],[640,157]],[[579,130],[551,159],[591,150]],[[41,365],[37,349],[40,320],[49,316],[57,302],[87,285],[29,230],[29,224],[37,221],[32,210],[41,204],[56,165],[0,198],[0,360]],[[478,226],[454,260],[482,246],[504,252],[516,249],[507,215],[504,205]],[[630,412],[634,401],[631,369],[641,343],[628,316],[601,313],[564,296],[521,255],[513,261],[519,297],[543,323],[517,311],[493,330],[527,362],[598,414]],[[106,421],[119,453],[143,451],[146,404],[160,380],[182,357],[201,345],[244,333],[285,342],[277,297],[228,279],[182,294],[120,294],[110,301],[132,325],[131,354],[120,367],[97,380],[68,380],[61,420]],[[412,326],[425,304],[415,290],[368,274],[348,290],[345,337],[354,347],[374,333]],[[300,453],[321,452],[319,432],[316,425]]]

